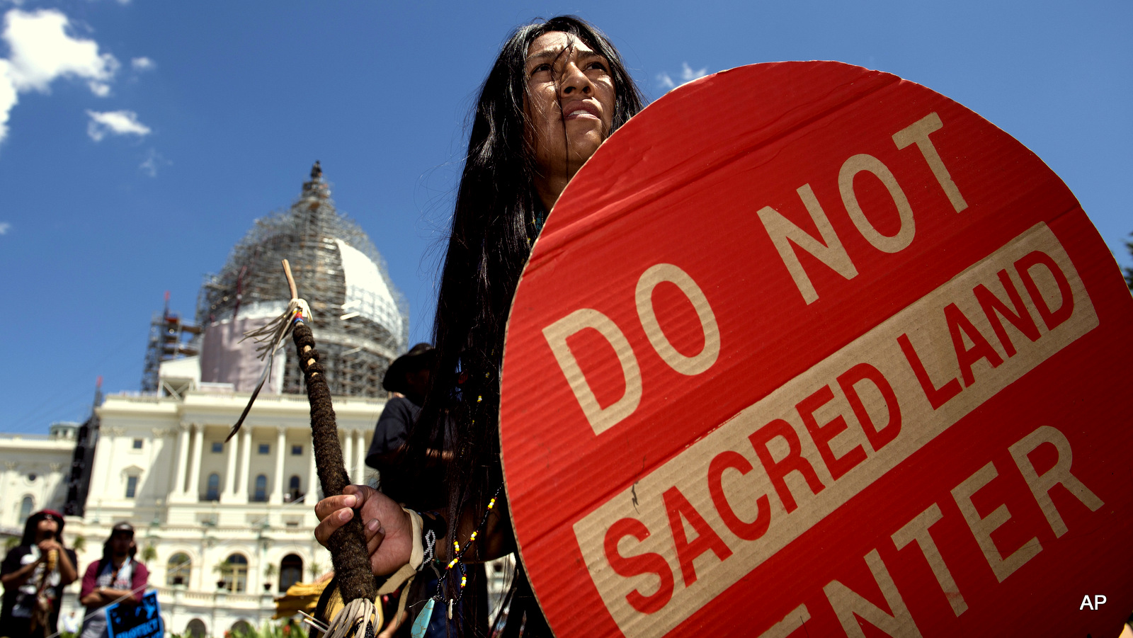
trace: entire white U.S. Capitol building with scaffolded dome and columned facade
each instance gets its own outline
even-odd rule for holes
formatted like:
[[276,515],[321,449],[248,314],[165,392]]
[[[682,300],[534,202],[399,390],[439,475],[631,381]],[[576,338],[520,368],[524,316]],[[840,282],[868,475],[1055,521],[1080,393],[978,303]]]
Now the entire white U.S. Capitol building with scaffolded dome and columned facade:
[[[258,626],[274,613],[274,596],[329,571],[313,534],[309,406],[290,343],[224,442],[263,369],[240,337],[288,301],[283,257],[314,313],[347,470],[353,482],[374,480],[364,458],[385,405],[382,375],[406,351],[408,314],[368,237],[334,210],[316,164],[299,199],[257,220],[205,281],[195,322],[168,308],[154,318],[140,392],[110,394],[85,424],[57,424],[48,435],[0,434],[0,531],[18,536],[28,513],[63,511],[68,546],[82,546],[82,577],[110,528],[129,521],[167,630],[177,633]],[[61,629],[82,618],[78,587],[67,588]]]

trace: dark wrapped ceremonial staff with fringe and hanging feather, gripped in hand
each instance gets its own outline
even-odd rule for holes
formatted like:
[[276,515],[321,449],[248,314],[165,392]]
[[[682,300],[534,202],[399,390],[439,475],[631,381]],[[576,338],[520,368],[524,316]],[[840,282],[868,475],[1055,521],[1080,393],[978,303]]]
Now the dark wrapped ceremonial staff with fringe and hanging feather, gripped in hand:
[[[287,260],[283,260],[283,272],[287,274],[291,301],[282,315],[246,335],[264,343],[258,347],[258,351],[261,358],[267,357],[267,364],[259,385],[256,386],[248,406],[228,437],[231,439],[240,429],[259,388],[267,377],[275,351],[283,344],[287,335],[291,334],[299,356],[299,368],[306,381],[307,400],[310,402],[310,433],[318,482],[324,495],[334,496],[342,493],[342,488],[350,483],[350,477],[342,462],[342,448],[339,445],[331,391],[326,385],[323,366],[318,363],[314,334],[307,325],[312,318],[310,307],[299,298],[295,279],[291,277],[291,266]],[[374,604],[378,596],[378,587],[370,571],[369,552],[366,548],[366,534],[361,520],[355,517],[335,530],[327,539],[326,548],[330,550],[331,562],[334,564],[334,579],[326,588],[331,594],[329,596],[324,594],[320,604],[321,607],[332,610],[332,613],[324,611],[323,620],[327,621],[325,638],[373,637],[381,627],[382,614],[381,607]],[[342,606],[323,604],[324,601],[334,598],[340,599]]]

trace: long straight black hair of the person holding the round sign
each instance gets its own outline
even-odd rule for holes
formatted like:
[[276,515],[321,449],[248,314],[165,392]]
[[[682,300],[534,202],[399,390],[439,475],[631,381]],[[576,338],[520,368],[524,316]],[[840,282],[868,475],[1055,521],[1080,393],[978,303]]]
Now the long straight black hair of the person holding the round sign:
[[433,327],[436,364],[404,457],[407,469],[437,471],[427,463],[426,449],[449,440],[453,460],[444,469],[450,543],[461,514],[474,511],[478,518],[503,480],[496,428],[504,327],[546,214],[535,187],[539,171],[535,148],[525,135],[525,68],[528,46],[552,32],[578,39],[610,62],[615,91],[611,133],[645,104],[610,40],[573,16],[518,27],[484,80],[441,271]]

